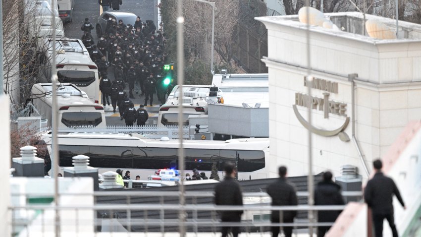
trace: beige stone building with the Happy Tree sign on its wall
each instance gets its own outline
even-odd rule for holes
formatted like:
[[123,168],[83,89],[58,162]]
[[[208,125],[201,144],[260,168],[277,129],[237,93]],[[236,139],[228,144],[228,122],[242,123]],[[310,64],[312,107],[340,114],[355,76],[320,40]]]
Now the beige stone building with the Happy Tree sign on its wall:
[[[324,14],[337,26],[310,27],[313,160],[315,174],[335,175],[349,164],[367,178],[361,154],[383,156],[405,125],[421,118],[421,25],[399,22],[399,38],[369,37],[358,12]],[[395,34],[396,21],[367,15]],[[305,23],[297,15],[258,17],[268,29],[269,136],[271,176],[279,165],[289,175],[308,170],[308,87]],[[376,23],[377,24],[377,23]],[[387,30],[389,29],[389,30]],[[363,34],[365,32],[365,34]],[[355,140],[352,86],[355,78]]]

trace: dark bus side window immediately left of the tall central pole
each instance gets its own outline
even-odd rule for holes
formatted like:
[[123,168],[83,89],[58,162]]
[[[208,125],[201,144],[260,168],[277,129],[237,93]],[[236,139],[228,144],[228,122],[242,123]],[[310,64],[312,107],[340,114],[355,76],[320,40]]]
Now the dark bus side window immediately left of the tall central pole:
[[175,148],[133,148],[133,169],[178,169]]

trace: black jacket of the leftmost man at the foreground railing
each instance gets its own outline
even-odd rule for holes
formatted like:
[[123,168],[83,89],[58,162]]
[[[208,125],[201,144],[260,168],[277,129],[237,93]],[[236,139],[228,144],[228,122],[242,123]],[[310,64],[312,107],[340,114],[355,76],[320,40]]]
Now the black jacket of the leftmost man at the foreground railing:
[[[225,177],[225,180],[215,186],[216,205],[243,205],[243,194],[238,182],[231,177]],[[223,221],[240,221],[243,211],[222,211],[221,219]]]

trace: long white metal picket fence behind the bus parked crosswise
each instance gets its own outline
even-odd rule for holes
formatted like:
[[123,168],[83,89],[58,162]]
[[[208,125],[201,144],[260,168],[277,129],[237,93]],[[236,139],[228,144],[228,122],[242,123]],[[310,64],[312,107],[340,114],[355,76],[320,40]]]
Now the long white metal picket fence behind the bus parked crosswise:
[[[178,139],[178,126],[107,126],[107,127],[59,127],[58,132],[107,132],[107,133],[138,133],[147,138],[159,139],[168,137],[169,139]],[[190,139],[189,126],[183,126],[183,138]]]

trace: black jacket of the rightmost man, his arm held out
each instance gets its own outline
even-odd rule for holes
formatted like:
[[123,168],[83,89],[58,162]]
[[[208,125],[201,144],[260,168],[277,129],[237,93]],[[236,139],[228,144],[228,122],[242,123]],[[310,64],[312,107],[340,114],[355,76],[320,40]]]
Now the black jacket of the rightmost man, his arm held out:
[[389,214],[393,212],[392,197],[396,195],[402,206],[405,206],[395,182],[379,172],[368,180],[364,190],[364,199],[376,214]]

